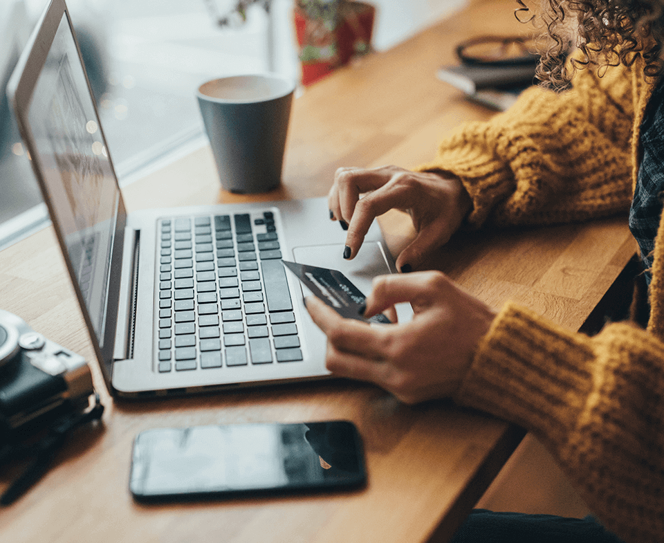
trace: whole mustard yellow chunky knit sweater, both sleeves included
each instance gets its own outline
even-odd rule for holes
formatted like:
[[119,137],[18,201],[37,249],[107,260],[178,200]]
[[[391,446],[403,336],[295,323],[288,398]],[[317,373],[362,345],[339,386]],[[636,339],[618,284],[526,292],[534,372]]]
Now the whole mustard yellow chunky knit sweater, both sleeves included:
[[[580,71],[565,93],[530,89],[510,111],[461,127],[421,169],[461,178],[474,227],[627,212],[651,93],[640,65]],[[663,266],[661,224],[647,331],[610,324],[589,338],[507,304],[455,398],[537,435],[627,542],[664,540]]]

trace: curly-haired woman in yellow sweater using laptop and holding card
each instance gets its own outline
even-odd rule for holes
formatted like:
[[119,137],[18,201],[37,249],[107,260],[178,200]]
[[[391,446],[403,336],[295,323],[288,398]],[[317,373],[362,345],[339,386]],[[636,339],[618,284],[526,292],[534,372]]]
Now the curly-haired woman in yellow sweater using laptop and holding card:
[[[540,77],[553,90],[530,89],[510,111],[464,125],[417,172],[340,169],[329,194],[331,217],[348,226],[347,258],[378,214],[410,212],[418,234],[397,259],[402,272],[459,228],[629,210],[647,268],[647,329],[610,324],[589,338],[515,304],[496,314],[436,272],[374,283],[365,316],[411,302],[414,318],[405,324],[344,320],[307,300],[328,335],[333,373],[376,383],[407,403],[452,397],[523,425],[626,542],[664,534],[663,8],[662,0],[546,0],[537,20],[554,46]],[[578,52],[565,66],[569,21],[578,27]],[[471,515],[459,541],[477,537],[478,518],[486,520]],[[615,536],[600,527],[592,537]]]

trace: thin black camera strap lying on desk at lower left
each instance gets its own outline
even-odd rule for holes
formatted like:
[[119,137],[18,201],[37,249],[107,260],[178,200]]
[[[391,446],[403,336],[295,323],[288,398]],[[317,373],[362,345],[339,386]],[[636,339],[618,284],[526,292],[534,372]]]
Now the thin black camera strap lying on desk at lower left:
[[0,505],[7,506],[19,499],[33,486],[50,467],[55,454],[66,441],[68,434],[75,428],[102,418],[104,406],[99,394],[95,394],[95,405],[84,412],[70,412],[57,418],[42,439],[32,445],[12,444],[0,450],[0,464],[12,459],[33,457],[25,470],[19,475],[0,497]]

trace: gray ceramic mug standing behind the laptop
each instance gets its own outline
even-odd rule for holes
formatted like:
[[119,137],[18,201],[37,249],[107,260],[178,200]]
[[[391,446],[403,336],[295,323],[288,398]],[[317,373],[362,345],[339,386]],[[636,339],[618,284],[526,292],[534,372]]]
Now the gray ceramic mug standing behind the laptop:
[[295,82],[277,74],[234,75],[203,83],[205,130],[230,192],[268,192],[279,186]]

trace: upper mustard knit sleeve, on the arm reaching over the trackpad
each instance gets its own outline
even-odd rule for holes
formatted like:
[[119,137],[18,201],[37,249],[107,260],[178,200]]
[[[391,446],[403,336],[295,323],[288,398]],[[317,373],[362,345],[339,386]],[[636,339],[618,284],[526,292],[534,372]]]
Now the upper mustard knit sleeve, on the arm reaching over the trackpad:
[[629,68],[575,74],[569,91],[533,87],[488,122],[462,125],[432,162],[461,178],[483,223],[551,224],[626,212],[634,97]]

